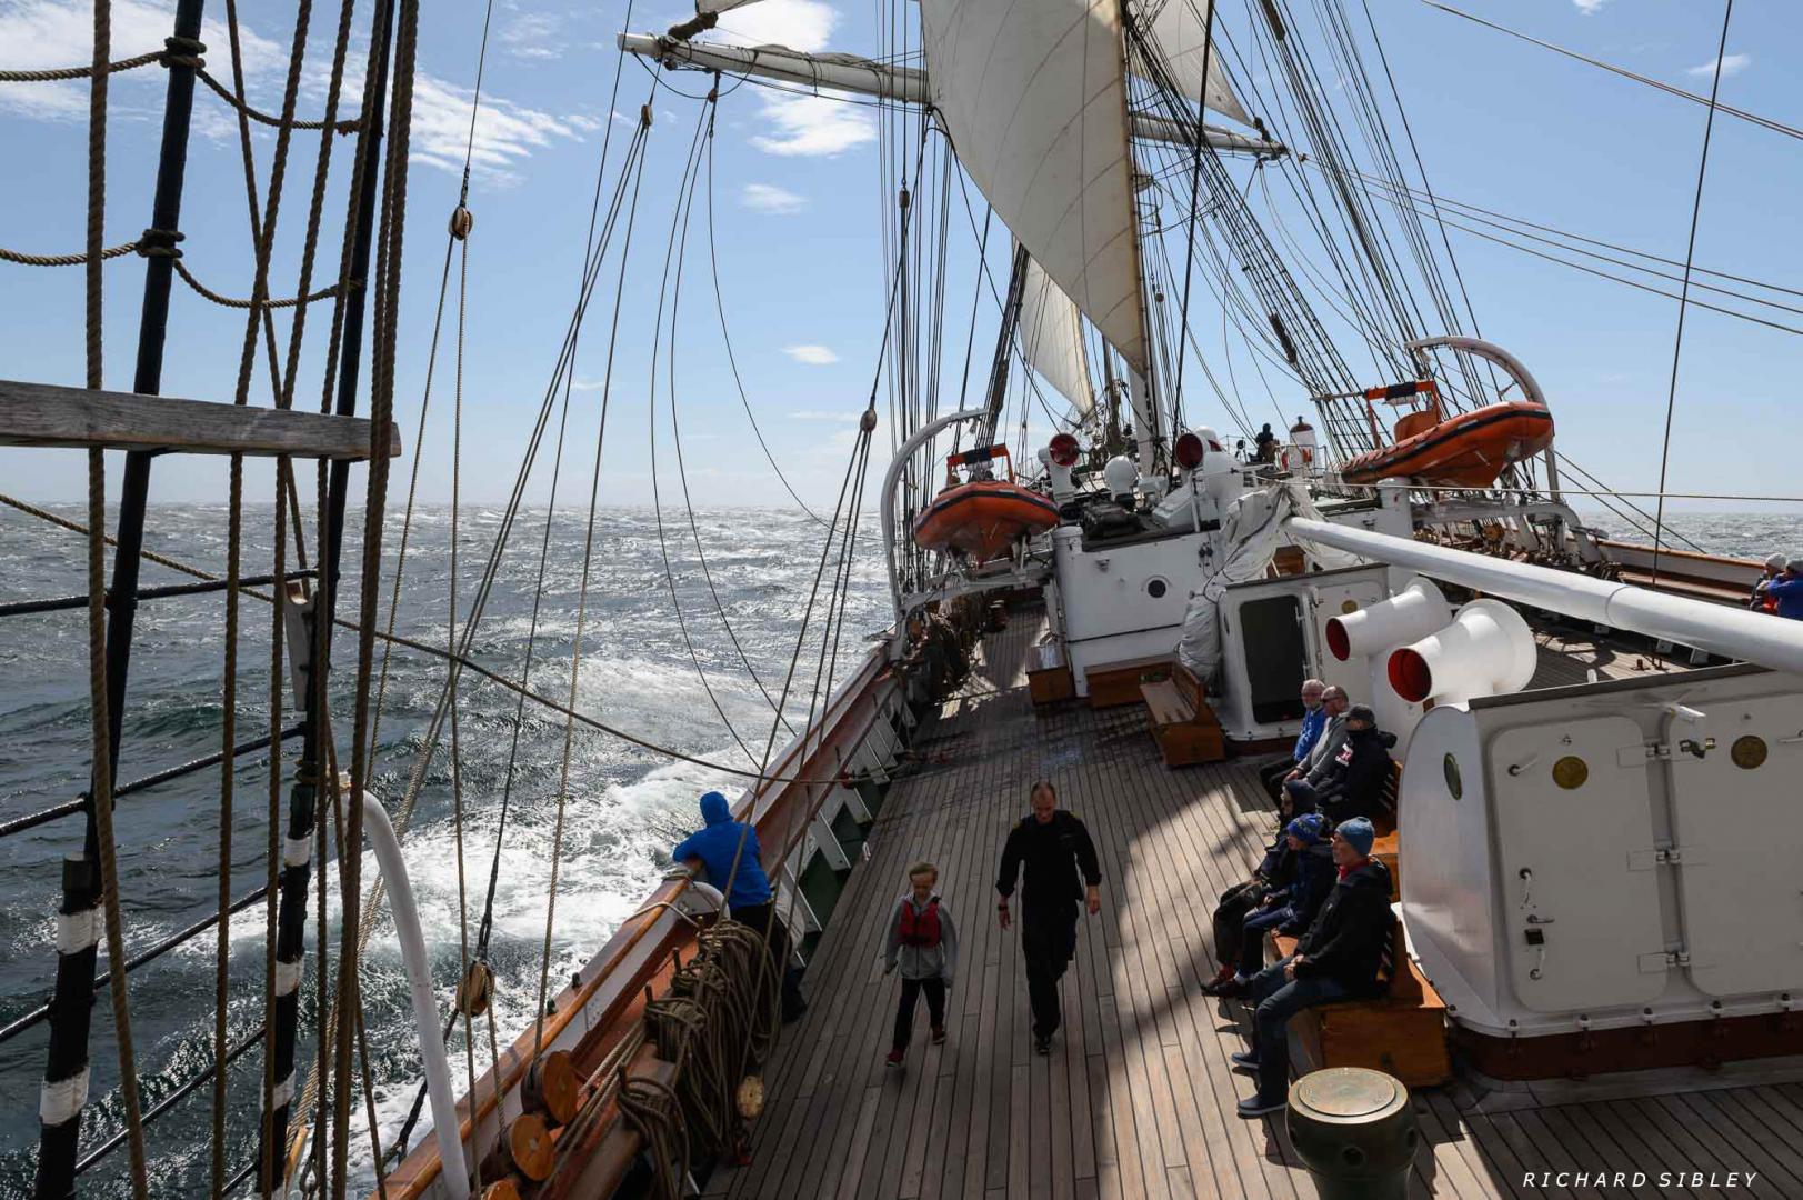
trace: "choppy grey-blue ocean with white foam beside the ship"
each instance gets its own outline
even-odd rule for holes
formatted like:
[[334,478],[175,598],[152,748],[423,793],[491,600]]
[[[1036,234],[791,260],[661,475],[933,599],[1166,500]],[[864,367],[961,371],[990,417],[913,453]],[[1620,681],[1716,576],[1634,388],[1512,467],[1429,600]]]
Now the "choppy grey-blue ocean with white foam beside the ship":
[[[63,511],[81,520],[76,509]],[[566,697],[570,657],[582,597],[582,512],[559,511],[550,522],[550,552],[534,651],[532,688]],[[269,570],[267,507],[247,509],[245,574]],[[465,509],[458,532],[458,594],[467,610],[481,567],[501,523],[496,509]],[[1594,523],[1619,536],[1632,531],[1599,514]],[[1774,549],[1803,552],[1803,520],[1771,514],[1682,514],[1671,529],[1716,554],[1763,558]],[[355,536],[348,522],[348,576],[339,614],[355,614]],[[225,511],[213,505],[153,509],[148,547],[222,572]],[[503,559],[472,657],[517,678],[532,630],[545,511],[521,516]],[[802,512],[712,509],[687,512],[649,509],[606,511],[597,522],[588,586],[577,707],[618,729],[710,763],[743,767],[770,736],[772,697],[795,651],[795,635],[820,558],[822,527]],[[386,534],[393,577],[400,518]],[[842,678],[862,659],[865,635],[889,623],[880,532],[871,516],[860,525],[856,565],[847,597],[846,633],[838,650]],[[700,541],[705,554],[696,552]],[[427,644],[445,644],[451,630],[451,512],[415,514],[404,572],[397,632]],[[312,545],[307,547],[312,554]],[[667,563],[665,568],[665,552]],[[69,595],[85,588],[85,540],[13,509],[0,509],[0,603]],[[710,577],[710,579],[709,579]],[[144,586],[180,583],[182,576],[146,563]],[[712,586],[710,586],[712,583]],[[674,592],[674,597],[673,597]],[[718,603],[716,603],[718,595]],[[388,614],[384,588],[380,612]],[[674,599],[674,603],[673,603]],[[721,610],[725,619],[721,617]],[[222,706],[220,595],[146,601],[139,608],[126,695],[119,780],[215,752]],[[269,606],[247,599],[238,648],[238,738],[269,729]],[[730,635],[728,635],[730,626]],[[813,641],[810,635],[810,642]],[[334,644],[334,715],[341,752],[348,754],[350,689],[355,639],[339,630]],[[811,655],[806,662],[811,662]],[[377,648],[380,662],[380,646]],[[755,673],[755,682],[754,682]],[[406,790],[426,724],[445,678],[440,659],[397,650],[380,713],[375,790],[389,810]],[[72,799],[88,778],[87,626],[81,610],[0,621],[0,823]],[[799,727],[808,709],[811,669],[802,671],[788,706]],[[292,697],[288,700],[292,711]],[[469,929],[474,937],[483,891],[498,861],[492,964],[498,974],[496,1027],[505,1047],[525,1029],[537,996],[546,926],[554,821],[564,718],[528,702],[516,720],[514,693],[465,675],[460,704],[460,772],[463,792],[463,864]],[[505,839],[496,857],[496,825],[508,776],[508,751],[519,734]],[[786,740],[779,733],[777,745]],[[741,749],[741,742],[743,747]],[[292,752],[285,774],[292,774]],[[260,886],[269,837],[269,756],[240,760],[233,805],[233,895]],[[694,823],[696,796],[710,787],[736,794],[734,776],[633,747],[577,725],[572,740],[566,826],[561,846],[555,926],[552,929],[552,992],[584,962],[618,922],[633,913],[667,866],[674,835]],[[283,810],[287,798],[283,796]],[[442,745],[426,776],[418,808],[404,834],[413,888],[426,922],[440,1000],[458,974],[458,854],[453,817],[449,747]],[[283,816],[285,819],[285,816]],[[117,852],[126,955],[198,922],[216,908],[220,832],[218,771],[128,796],[117,807]],[[0,1027],[41,1005],[52,987],[58,881],[63,855],[78,852],[79,817],[40,825],[0,839]],[[366,879],[373,866],[366,866]],[[328,868],[328,890],[337,875]],[[337,947],[335,902],[328,946]],[[206,1068],[213,1056],[216,933],[206,931],[130,974],[132,1036],[144,1104],[173,1094]],[[308,922],[307,976],[301,983],[303,1063],[312,1059],[314,924]],[[261,1020],[263,906],[231,922],[231,1038],[252,1032]],[[103,967],[105,969],[105,960]],[[413,1103],[418,1054],[407,1009],[406,980],[393,926],[382,920],[364,964],[364,1002],[384,1148]],[[110,1002],[94,1011],[94,1103],[83,1122],[83,1151],[121,1130],[117,1050]],[[38,1140],[38,1085],[47,1027],[0,1043],[0,1195],[23,1195],[32,1178]],[[489,1061],[487,1034],[478,1025],[476,1070]],[[451,1041],[453,1077],[462,1090],[465,1054],[462,1027]],[[252,1048],[229,1070],[227,1171],[256,1153],[261,1054]],[[204,1195],[209,1171],[211,1086],[173,1103],[146,1130],[151,1193]],[[352,1162],[362,1189],[373,1184],[362,1099],[352,1106]],[[426,1135],[422,1119],[413,1133]],[[83,1195],[124,1196],[126,1155],[103,1158],[83,1177]]]

